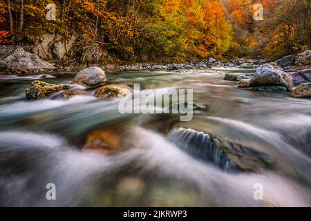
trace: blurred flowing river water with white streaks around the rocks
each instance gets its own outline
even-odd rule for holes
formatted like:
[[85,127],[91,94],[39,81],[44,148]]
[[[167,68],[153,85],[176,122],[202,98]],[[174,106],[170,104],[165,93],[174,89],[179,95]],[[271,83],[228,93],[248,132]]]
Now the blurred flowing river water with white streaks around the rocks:
[[[194,89],[207,108],[190,122],[122,115],[119,99],[91,95],[28,101],[34,77],[2,76],[0,206],[311,206],[311,100],[223,80],[245,71],[106,74],[109,84]],[[43,81],[70,83],[75,73],[53,75]],[[113,131],[122,153],[82,150],[99,128]],[[56,200],[46,199],[49,183]]]

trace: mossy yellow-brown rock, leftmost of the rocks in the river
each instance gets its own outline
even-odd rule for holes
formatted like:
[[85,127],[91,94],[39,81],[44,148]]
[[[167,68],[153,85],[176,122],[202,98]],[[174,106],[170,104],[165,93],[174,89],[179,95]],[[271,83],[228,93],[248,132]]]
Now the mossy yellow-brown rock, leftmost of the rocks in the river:
[[44,81],[33,81],[26,89],[27,99],[45,99],[54,93],[70,88],[69,84],[48,84]]

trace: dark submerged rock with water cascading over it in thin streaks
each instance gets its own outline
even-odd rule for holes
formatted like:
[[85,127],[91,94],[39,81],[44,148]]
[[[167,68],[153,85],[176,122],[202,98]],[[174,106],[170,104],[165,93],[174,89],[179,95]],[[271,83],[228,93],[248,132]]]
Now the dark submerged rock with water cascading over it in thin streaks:
[[264,153],[189,128],[173,129],[167,137],[182,151],[225,171],[260,171],[274,164]]

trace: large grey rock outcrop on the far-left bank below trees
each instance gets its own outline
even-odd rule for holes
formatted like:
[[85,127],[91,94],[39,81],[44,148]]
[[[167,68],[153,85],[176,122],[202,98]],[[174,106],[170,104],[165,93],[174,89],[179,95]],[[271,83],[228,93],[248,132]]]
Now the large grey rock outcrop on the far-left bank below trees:
[[[8,48],[7,48],[8,47]],[[38,55],[26,52],[16,46],[0,46],[1,56],[8,55],[0,60],[0,70],[55,70],[55,66],[39,58]]]

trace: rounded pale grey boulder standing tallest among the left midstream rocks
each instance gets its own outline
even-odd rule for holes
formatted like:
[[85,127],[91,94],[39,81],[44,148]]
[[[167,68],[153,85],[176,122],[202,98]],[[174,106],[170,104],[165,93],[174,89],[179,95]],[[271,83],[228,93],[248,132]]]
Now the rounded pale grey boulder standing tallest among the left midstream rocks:
[[72,84],[79,84],[87,88],[96,88],[106,84],[107,78],[102,68],[91,67],[81,70],[72,81]]

